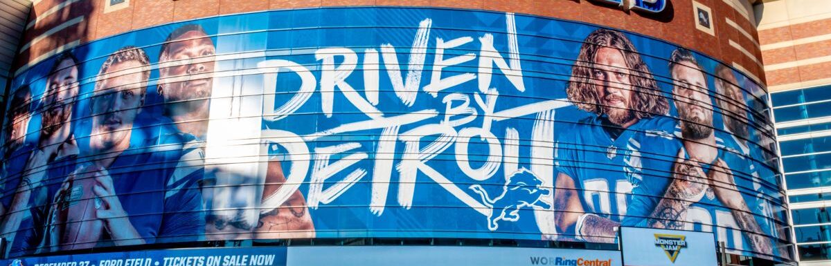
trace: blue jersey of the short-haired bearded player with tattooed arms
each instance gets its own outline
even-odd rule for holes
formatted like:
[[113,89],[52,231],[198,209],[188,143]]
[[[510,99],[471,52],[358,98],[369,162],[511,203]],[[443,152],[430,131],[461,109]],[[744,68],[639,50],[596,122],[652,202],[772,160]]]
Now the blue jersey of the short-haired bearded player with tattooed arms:
[[[638,148],[626,157],[627,176],[634,186],[632,189],[632,203],[628,206],[627,217],[623,220],[624,226],[647,226],[647,218],[652,215],[658,202],[666,194],[666,188],[672,179],[672,167],[675,157],[681,149],[680,128],[676,128],[675,138],[671,136],[657,136],[644,134],[637,143],[630,145]],[[717,157],[723,160],[734,177],[736,186],[750,209],[750,215],[762,228],[762,233],[770,235],[772,228],[764,215],[755,214],[759,199],[755,193],[750,194],[754,187],[755,172],[752,163],[736,150],[730,143],[729,134],[716,132]],[[636,138],[637,139],[637,138]],[[726,141],[725,141],[726,140]],[[684,154],[685,157],[688,157]],[[702,164],[705,173],[710,172],[711,164]],[[691,204],[687,210],[687,223],[684,230],[714,232],[717,241],[725,242],[727,249],[752,251],[749,240],[735,220],[732,210],[726,208],[715,193],[708,188],[700,201]],[[773,243],[771,243],[773,244]]]

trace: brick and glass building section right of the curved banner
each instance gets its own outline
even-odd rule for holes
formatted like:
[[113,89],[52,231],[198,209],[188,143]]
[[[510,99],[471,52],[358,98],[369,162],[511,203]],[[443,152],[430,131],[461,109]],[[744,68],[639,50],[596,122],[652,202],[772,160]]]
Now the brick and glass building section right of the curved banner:
[[829,158],[831,6],[784,0],[755,7],[799,264],[831,264]]

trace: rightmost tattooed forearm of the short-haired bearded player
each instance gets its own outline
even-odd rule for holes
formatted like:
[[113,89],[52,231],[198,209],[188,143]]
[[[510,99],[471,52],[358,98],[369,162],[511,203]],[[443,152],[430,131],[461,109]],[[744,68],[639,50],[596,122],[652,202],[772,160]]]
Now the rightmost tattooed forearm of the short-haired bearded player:
[[733,214],[739,228],[752,232],[745,234],[747,239],[750,239],[750,247],[757,253],[771,254],[773,247],[770,244],[770,239],[763,234],[764,231],[755,220],[753,213],[747,206],[747,202],[745,202],[745,198],[741,196],[739,188],[735,186],[735,179],[730,174],[730,167],[727,166],[727,163],[718,159],[710,170],[710,177],[715,196],[721,203],[730,208],[730,212]]

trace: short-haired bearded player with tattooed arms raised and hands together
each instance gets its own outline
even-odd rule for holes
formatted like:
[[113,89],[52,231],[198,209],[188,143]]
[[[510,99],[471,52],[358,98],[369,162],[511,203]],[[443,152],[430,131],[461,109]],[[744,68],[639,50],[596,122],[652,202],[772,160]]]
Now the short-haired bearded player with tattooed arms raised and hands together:
[[771,254],[760,217],[748,207],[755,195],[740,192],[751,190],[750,162],[715,132],[705,72],[690,51],[678,49],[670,60],[680,136],[643,138],[639,159],[628,160],[638,165],[630,165],[635,188],[624,225],[715,230],[728,249]]

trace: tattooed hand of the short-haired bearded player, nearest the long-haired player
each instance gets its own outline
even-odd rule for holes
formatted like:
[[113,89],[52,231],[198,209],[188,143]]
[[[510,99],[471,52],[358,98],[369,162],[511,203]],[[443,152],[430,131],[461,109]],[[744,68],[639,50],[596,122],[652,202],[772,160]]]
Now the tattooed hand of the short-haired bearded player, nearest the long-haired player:
[[676,199],[696,202],[704,196],[707,188],[707,179],[704,170],[698,162],[687,160],[684,148],[678,150],[676,162],[672,166],[674,178],[668,192],[677,196]]

